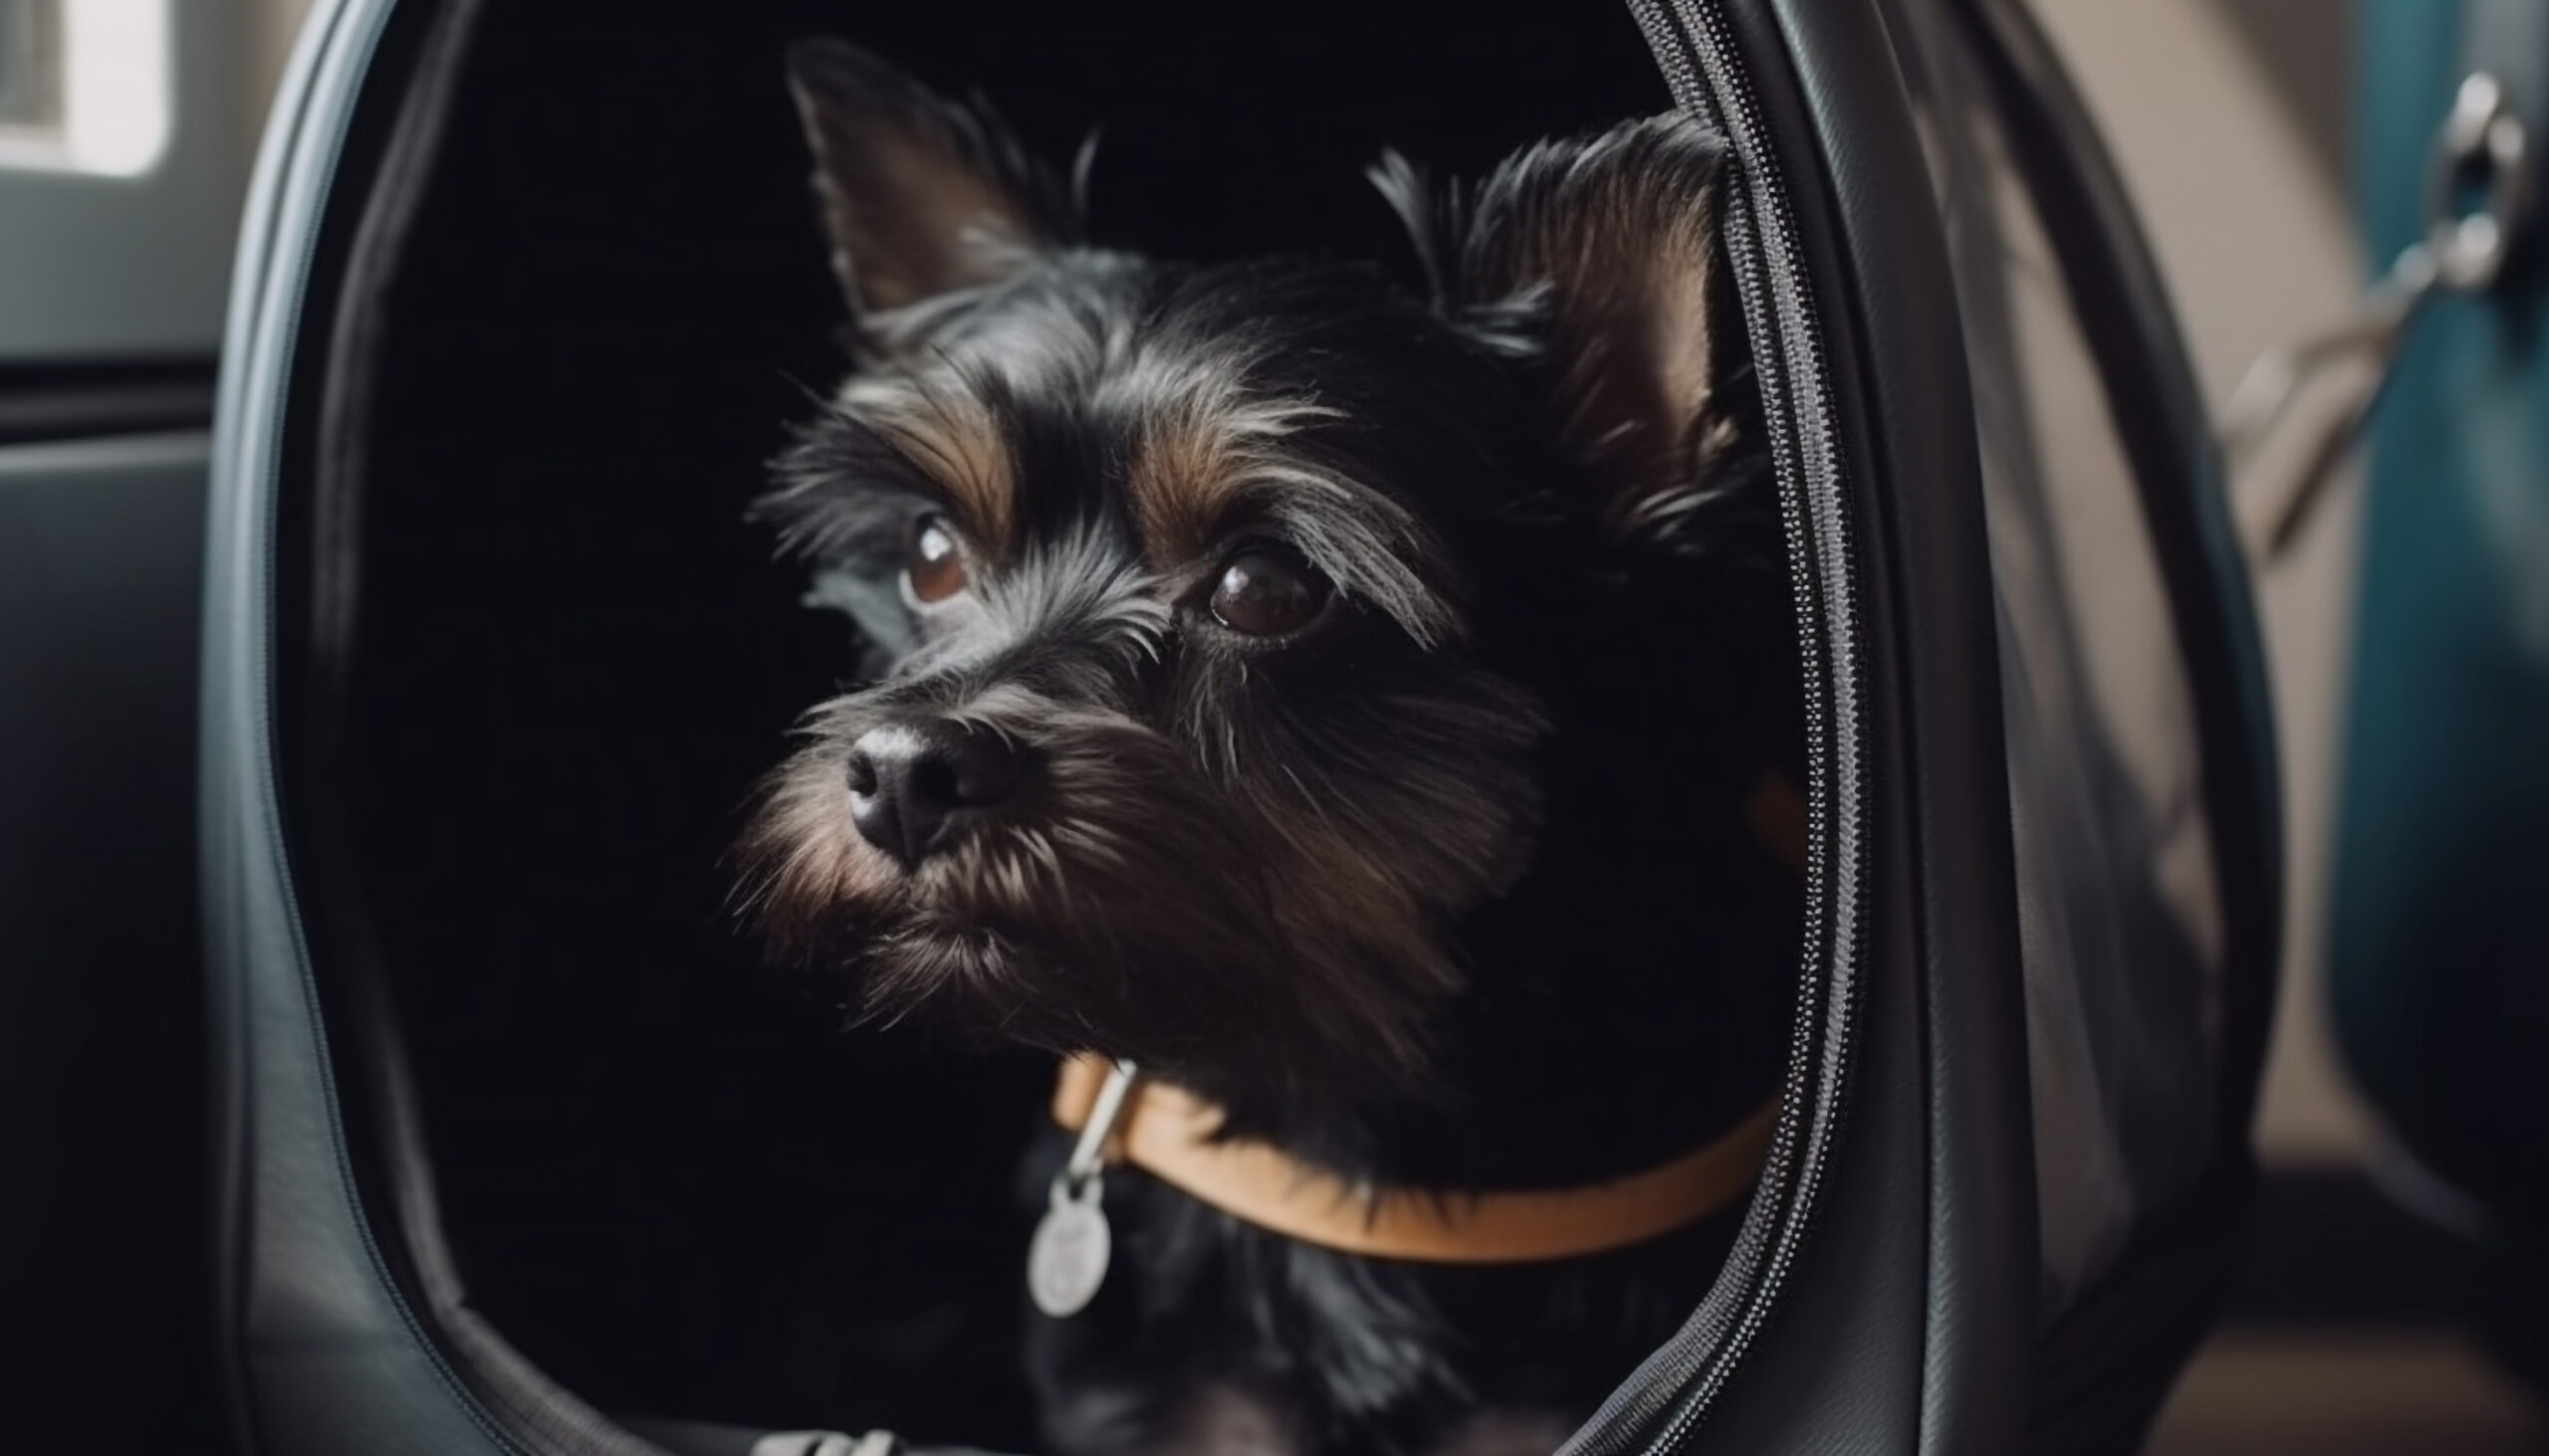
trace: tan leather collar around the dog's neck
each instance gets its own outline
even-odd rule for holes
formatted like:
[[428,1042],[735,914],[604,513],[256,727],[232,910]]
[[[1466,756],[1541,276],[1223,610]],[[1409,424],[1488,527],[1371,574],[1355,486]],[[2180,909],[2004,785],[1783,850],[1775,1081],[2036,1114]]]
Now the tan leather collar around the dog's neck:
[[[1073,1056],[1053,1089],[1053,1117],[1078,1132],[1106,1084],[1101,1056]],[[1779,1122],[1772,1096],[1705,1147],[1583,1188],[1448,1193],[1371,1188],[1292,1160],[1267,1142],[1216,1142],[1221,1109],[1160,1081],[1137,1081],[1106,1140],[1180,1193],[1259,1229],[1348,1255],[1440,1265],[1573,1260],[1642,1244],[1726,1209],[1751,1188]]]

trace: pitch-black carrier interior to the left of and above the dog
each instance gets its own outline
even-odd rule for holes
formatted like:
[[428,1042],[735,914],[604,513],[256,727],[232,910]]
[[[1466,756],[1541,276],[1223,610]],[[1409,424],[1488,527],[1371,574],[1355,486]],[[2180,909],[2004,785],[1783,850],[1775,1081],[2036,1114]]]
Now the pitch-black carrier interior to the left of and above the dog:
[[755,778],[854,663],[744,520],[844,367],[785,43],[979,87],[1048,158],[1104,122],[1099,237],[1188,258],[1410,268],[1382,145],[1476,176],[1667,107],[1621,10],[1430,13],[548,0],[367,102],[408,140],[339,240],[285,507],[285,790],[472,1303],[594,1405],[1030,1443],[1012,1160],[1050,1066],[844,1035],[726,908]]

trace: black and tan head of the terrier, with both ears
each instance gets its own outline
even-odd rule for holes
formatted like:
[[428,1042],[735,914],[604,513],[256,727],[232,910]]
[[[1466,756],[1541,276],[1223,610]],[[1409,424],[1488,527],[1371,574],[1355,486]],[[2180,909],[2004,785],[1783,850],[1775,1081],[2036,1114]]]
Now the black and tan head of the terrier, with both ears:
[[765,513],[869,660],[747,834],[772,943],[1055,1051],[1410,1076],[1568,663],[1759,513],[1715,140],[1392,158],[1417,298],[1091,247],[984,110],[839,43],[793,79],[856,370]]

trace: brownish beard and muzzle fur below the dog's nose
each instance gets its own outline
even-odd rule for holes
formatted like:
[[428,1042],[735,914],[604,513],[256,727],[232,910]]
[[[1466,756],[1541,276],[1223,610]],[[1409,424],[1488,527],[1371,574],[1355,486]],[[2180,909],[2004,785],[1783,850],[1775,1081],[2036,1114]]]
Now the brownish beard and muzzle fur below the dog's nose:
[[[1425,1023],[1458,987],[1448,910],[1512,875],[1527,790],[1476,796],[1466,844],[1392,852],[1297,783],[1231,788],[1122,711],[999,686],[951,717],[1027,755],[1030,803],[905,870],[854,829],[841,768],[890,699],[818,709],[742,847],[772,949],[846,974],[864,1017],[1211,1081],[1422,1081]],[[1422,770],[1399,778],[1427,793]]]

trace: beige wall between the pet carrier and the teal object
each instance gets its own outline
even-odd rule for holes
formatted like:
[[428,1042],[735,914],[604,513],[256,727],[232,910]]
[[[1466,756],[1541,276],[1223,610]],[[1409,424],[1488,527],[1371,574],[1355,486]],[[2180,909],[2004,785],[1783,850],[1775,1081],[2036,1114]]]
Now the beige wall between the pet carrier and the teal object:
[[[2363,263],[2343,194],[2343,0],[2034,0],[2088,92],[2218,403],[2258,352],[2353,303]],[[2320,926],[2335,724],[2353,607],[2358,479],[2258,602],[2284,750],[2284,1005],[2258,1140],[2269,1163],[2360,1160],[2371,1119],[2330,1051]]]

